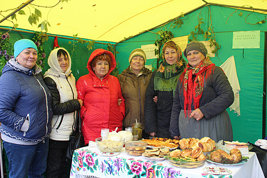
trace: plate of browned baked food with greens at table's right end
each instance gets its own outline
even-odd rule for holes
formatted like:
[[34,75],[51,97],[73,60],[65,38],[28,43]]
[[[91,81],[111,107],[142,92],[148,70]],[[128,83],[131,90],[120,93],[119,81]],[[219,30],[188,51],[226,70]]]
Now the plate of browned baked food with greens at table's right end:
[[249,157],[242,157],[239,149],[232,149],[229,154],[223,150],[216,150],[206,155],[207,162],[221,165],[240,165],[248,162]]

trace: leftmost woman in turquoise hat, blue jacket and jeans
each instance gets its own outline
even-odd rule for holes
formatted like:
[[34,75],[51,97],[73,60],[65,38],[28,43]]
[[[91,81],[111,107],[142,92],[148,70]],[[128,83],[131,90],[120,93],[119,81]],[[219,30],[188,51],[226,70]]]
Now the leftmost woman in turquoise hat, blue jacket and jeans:
[[14,44],[14,57],[0,77],[1,137],[9,161],[9,177],[44,177],[53,111],[38,50],[28,39]]

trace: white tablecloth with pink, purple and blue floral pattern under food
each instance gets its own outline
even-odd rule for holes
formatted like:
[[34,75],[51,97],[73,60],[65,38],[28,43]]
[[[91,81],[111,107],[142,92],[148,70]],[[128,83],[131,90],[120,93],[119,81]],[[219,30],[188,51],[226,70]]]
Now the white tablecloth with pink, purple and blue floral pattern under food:
[[[150,161],[142,156],[133,157],[127,155],[125,149],[119,155],[101,156],[97,147],[82,147],[75,150],[72,157],[70,177],[75,178],[104,178],[104,177],[168,177],[168,178],[236,178],[257,177],[264,178],[256,154],[250,152],[250,159],[242,165],[218,165],[205,162],[202,167],[183,169],[173,167],[168,160]],[[203,167],[220,166],[230,169],[228,175],[212,175],[203,172]]]

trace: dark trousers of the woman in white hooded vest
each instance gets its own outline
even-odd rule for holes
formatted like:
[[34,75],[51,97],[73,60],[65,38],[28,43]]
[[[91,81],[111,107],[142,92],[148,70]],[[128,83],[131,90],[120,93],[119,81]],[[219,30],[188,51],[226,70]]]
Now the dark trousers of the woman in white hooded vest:
[[66,158],[69,141],[56,141],[49,139],[49,150],[47,157],[47,178],[70,177],[70,163]]

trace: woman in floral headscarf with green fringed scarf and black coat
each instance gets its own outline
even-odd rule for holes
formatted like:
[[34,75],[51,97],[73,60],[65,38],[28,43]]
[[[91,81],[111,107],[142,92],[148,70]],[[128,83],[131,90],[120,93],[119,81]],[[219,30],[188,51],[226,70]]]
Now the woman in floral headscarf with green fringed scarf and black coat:
[[[145,93],[145,132],[150,136],[170,138],[171,108],[177,80],[184,71],[186,62],[181,48],[168,41],[162,48],[164,61],[155,70]],[[153,97],[158,97],[155,104]]]

